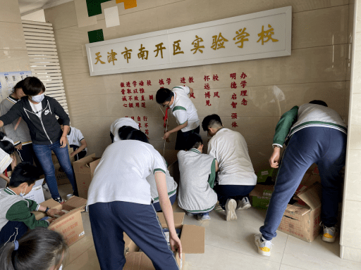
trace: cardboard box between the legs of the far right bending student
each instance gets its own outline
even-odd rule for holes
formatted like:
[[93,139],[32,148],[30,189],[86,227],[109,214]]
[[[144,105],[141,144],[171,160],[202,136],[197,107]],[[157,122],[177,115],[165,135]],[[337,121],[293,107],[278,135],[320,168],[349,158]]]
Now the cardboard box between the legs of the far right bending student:
[[279,231],[312,242],[321,230],[321,184],[316,181],[296,196],[304,204],[294,203],[287,206]]

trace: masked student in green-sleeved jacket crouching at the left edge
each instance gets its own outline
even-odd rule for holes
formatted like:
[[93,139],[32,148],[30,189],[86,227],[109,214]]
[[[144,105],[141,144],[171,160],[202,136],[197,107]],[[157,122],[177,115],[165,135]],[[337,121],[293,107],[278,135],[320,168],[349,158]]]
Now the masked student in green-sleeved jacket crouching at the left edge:
[[0,246],[20,239],[28,229],[49,226],[49,220],[36,220],[31,211],[46,212],[49,217],[64,214],[23,198],[32,190],[38,176],[37,167],[21,162],[13,171],[9,187],[0,190]]

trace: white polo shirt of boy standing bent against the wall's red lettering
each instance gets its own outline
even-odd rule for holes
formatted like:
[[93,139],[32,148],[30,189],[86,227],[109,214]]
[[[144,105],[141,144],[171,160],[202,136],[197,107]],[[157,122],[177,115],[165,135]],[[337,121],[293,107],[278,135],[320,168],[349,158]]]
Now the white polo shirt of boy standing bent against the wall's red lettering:
[[178,124],[184,124],[188,121],[187,127],[181,129],[182,132],[196,129],[200,125],[200,118],[197,115],[197,109],[192,103],[188,94],[190,89],[188,86],[174,86],[172,89],[174,93],[174,102],[170,106],[174,117]]

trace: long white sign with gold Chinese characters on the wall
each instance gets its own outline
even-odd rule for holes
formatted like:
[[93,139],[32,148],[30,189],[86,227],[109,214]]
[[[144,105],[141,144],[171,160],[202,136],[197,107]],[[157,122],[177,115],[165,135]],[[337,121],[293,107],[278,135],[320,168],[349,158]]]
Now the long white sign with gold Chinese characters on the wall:
[[292,8],[86,44],[90,75],[290,56]]

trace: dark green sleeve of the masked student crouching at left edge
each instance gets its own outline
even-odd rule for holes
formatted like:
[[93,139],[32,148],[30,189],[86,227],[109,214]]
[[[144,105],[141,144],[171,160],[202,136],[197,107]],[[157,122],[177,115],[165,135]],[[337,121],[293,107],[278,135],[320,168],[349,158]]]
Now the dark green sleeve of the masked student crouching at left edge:
[[8,212],[6,212],[6,219],[9,221],[22,221],[31,230],[36,227],[47,228],[49,226],[47,221],[35,219],[35,215],[30,212],[30,208],[27,207],[27,201],[25,200],[11,205]]

